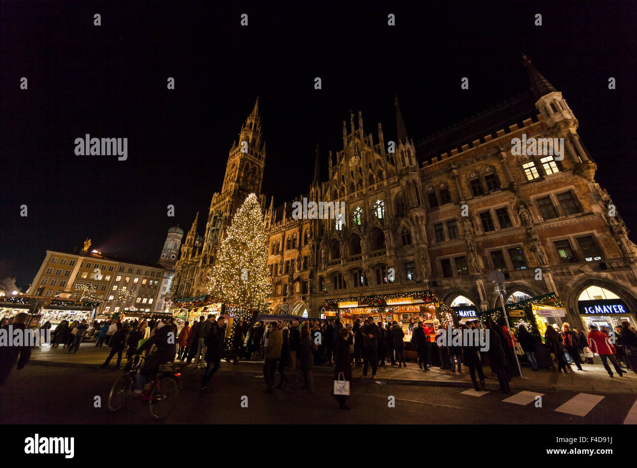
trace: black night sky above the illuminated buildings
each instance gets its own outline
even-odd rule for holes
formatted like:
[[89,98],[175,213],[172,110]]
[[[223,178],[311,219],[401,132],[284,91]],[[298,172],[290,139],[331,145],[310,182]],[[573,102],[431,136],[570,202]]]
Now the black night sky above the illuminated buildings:
[[[564,94],[596,179],[637,228],[635,3],[297,3],[1,2],[0,277],[28,285],[47,248],[87,236],[156,261],[169,227],[207,214],[257,96],[263,188],[278,205],[308,190],[317,142],[326,178],[350,108],[387,141],[397,93],[416,141],[528,89],[523,52]],[[76,156],[87,133],[128,138],[128,159]]]

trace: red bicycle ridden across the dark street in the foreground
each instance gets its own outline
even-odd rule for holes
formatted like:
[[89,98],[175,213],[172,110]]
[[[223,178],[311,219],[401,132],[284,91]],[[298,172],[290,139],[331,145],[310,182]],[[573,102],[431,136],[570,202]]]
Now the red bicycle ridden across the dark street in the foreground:
[[178,388],[180,388],[179,378],[181,376],[178,371],[157,372],[152,376],[146,385],[147,388],[141,394],[136,394],[132,391],[135,378],[138,378],[144,360],[154,354],[150,353],[146,357],[138,355],[126,365],[124,375],[113,383],[108,394],[109,411],[114,412],[121,409],[129,397],[136,397],[143,404],[148,404],[150,415],[155,419],[163,419],[175,409]]

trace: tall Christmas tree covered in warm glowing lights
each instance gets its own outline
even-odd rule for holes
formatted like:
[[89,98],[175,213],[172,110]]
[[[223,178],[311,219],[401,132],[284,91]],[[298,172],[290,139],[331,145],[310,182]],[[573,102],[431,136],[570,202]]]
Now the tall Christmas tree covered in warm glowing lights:
[[208,279],[210,294],[246,311],[266,310],[271,288],[266,268],[266,242],[261,204],[257,195],[250,194],[234,215],[222,241]]

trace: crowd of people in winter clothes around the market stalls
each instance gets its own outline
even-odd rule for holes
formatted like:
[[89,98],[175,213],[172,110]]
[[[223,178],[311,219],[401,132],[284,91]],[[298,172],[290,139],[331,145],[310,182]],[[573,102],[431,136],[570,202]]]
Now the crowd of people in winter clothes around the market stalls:
[[[14,327],[25,327],[27,315],[18,314],[14,318],[3,318],[0,327],[13,323]],[[45,322],[41,330],[50,329],[50,322]],[[501,392],[510,392],[510,381],[519,376],[518,362],[515,353],[526,356],[526,362],[533,371],[538,371],[535,358],[536,346],[540,344],[539,336],[529,332],[520,325],[517,333],[510,332],[504,319],[493,322],[489,318],[484,322],[469,321],[453,327],[461,330],[489,330],[489,349],[480,350],[478,343],[452,344],[445,340],[434,339],[434,332],[423,322],[410,321],[412,332],[411,343],[417,353],[419,369],[425,372],[432,367],[433,346],[438,347],[440,368],[451,372],[462,372],[464,364],[476,391],[485,389],[483,366],[489,359],[492,376],[497,376]],[[569,323],[548,326],[545,332],[545,344],[557,361],[560,372],[572,371],[571,363],[582,370],[582,362],[590,360],[594,353],[601,358],[608,374],[613,377],[608,361],[615,371],[624,374],[621,364],[637,373],[637,334],[628,322],[616,327],[614,332],[605,327],[590,325],[588,334],[571,327]],[[171,333],[172,332],[172,333]],[[439,325],[437,338],[445,332]],[[294,322],[255,322],[239,320],[233,327],[232,334],[226,339],[227,323],[225,318],[218,319],[209,314],[199,316],[192,323],[175,323],[173,318],[154,320],[95,320],[87,325],[86,320],[61,322],[52,333],[52,346],[68,348],[68,352],[77,352],[80,343],[85,339],[95,339],[95,347],[104,344],[110,346],[110,353],[100,365],[106,369],[111,359],[117,355],[113,370],[121,368],[122,357],[130,360],[135,354],[147,350],[157,351],[157,365],[170,365],[180,361],[193,368],[205,369],[201,381],[201,391],[209,392],[210,379],[220,368],[220,361],[238,363],[241,359],[262,360],[263,375],[266,383],[264,392],[271,394],[275,388],[276,372],[279,374],[276,388],[285,388],[297,392],[299,385],[310,394],[314,393],[312,367],[327,365],[334,367],[334,380],[351,381],[352,371],[362,365],[361,378],[368,378],[371,367],[371,378],[376,377],[378,367],[385,365],[406,367],[405,341],[402,323],[375,323],[372,316],[361,322],[344,326],[339,320],[294,320]],[[229,340],[229,342],[228,342]],[[6,347],[5,347],[6,348]],[[18,360],[18,369],[24,367],[29,360],[30,349],[15,348],[8,353],[2,350],[0,363],[0,384],[6,382],[8,374]],[[20,354],[21,353],[21,354]],[[580,356],[583,355],[583,356]],[[291,380],[287,369],[296,372]],[[152,369],[151,369],[152,371]],[[136,384],[135,392],[141,392],[143,379]],[[347,395],[334,394],[340,408],[348,409]]]

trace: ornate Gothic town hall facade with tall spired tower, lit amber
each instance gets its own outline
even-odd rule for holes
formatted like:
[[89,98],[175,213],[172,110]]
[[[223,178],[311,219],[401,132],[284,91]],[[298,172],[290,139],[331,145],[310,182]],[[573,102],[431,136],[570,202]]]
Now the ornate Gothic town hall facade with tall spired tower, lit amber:
[[[498,300],[489,280],[495,269],[505,272],[508,292],[557,293],[575,323],[578,297],[590,285],[612,290],[637,311],[636,246],[594,179],[597,166],[573,111],[526,57],[524,64],[529,92],[417,143],[397,99],[396,141],[385,141],[380,124],[366,132],[361,112],[357,122],[351,115],[342,150],[329,152],[327,181],[318,177],[317,148],[307,194],[282,206],[272,199],[267,209],[259,195],[272,311],[318,316],[327,299],[422,289],[448,304],[461,295],[486,310]],[[517,138],[557,139],[562,152],[519,154]],[[206,292],[234,209],[248,193],[261,194],[264,160],[257,99],[230,151],[203,238],[197,215],[182,245],[173,299]],[[303,199],[343,202],[345,213],[299,219],[292,203]]]

